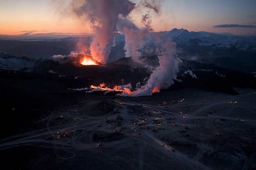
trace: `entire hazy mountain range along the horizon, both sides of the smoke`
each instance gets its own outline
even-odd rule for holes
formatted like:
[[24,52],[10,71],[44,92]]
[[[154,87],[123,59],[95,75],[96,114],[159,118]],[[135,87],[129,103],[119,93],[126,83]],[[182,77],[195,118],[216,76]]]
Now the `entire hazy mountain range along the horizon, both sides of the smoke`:
[[[186,29],[174,28],[171,31],[150,33],[150,41],[145,44],[145,48],[150,50],[141,50],[142,56],[155,55],[157,47],[155,36],[176,42],[176,51],[180,58],[201,63],[214,63],[247,73],[256,72],[256,36],[189,32]],[[0,51],[3,51],[0,54],[0,67],[22,69],[32,66],[36,62],[34,59],[47,58],[55,54],[68,55],[70,51],[78,50],[76,46],[78,41],[90,45],[91,40],[92,36],[27,39],[25,41],[0,40]],[[118,34],[115,46],[110,49],[108,62],[125,57],[124,45],[124,35]],[[151,52],[148,53],[148,51]],[[4,52],[9,54],[4,54]],[[13,55],[18,59],[15,59]]]

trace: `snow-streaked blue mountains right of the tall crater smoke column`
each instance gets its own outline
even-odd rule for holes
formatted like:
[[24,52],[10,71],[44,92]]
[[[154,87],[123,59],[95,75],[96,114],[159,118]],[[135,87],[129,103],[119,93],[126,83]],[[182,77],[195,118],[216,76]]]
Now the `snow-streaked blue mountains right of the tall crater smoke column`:
[[[141,50],[143,56],[155,55],[157,48],[155,36],[175,42],[180,58],[201,63],[214,63],[224,68],[247,73],[256,72],[256,36],[189,32],[186,29],[174,28],[171,31],[151,33],[150,42],[145,44],[146,50]],[[116,46],[110,50],[109,62],[125,56],[124,45],[125,37],[118,35]]]

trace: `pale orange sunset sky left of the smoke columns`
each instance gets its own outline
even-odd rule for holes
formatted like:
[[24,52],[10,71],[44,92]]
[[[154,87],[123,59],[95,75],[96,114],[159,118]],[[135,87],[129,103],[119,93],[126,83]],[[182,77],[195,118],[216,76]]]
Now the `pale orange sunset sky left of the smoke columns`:
[[0,35],[22,35],[31,31],[33,34],[58,33],[92,33],[90,23],[71,15],[63,14],[52,0],[0,3]]

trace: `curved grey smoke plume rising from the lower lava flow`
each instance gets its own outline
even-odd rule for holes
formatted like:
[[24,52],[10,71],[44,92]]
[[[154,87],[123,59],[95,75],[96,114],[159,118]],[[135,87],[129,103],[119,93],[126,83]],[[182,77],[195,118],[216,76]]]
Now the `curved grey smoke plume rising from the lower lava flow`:
[[[138,28],[128,18],[119,18],[118,30],[125,35],[126,57],[141,56],[138,50],[142,49],[146,42],[150,41],[149,33],[153,31],[151,27],[151,9],[156,14],[159,14],[162,0],[141,0],[138,8],[147,8],[148,11],[142,15],[141,22],[144,28]],[[176,73],[179,72],[179,61],[175,58],[176,50],[175,44],[170,40],[163,42],[159,36],[156,36],[156,44],[159,46],[156,49],[156,54],[159,59],[159,66],[150,75],[146,85],[133,91],[132,93],[124,92],[121,96],[148,96],[160,89],[167,89],[176,79]]]

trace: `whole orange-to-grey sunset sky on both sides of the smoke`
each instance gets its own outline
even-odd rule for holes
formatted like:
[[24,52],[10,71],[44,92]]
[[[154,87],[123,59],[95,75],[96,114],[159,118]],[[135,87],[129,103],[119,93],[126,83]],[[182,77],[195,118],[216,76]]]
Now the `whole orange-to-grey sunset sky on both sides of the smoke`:
[[[0,0],[0,34],[90,33],[90,24],[78,20],[64,7],[68,1],[56,4],[52,0]],[[152,26],[155,31],[176,27],[256,35],[255,7],[256,0],[163,0],[161,14],[152,14]],[[131,14],[139,26],[144,12],[135,10]]]

